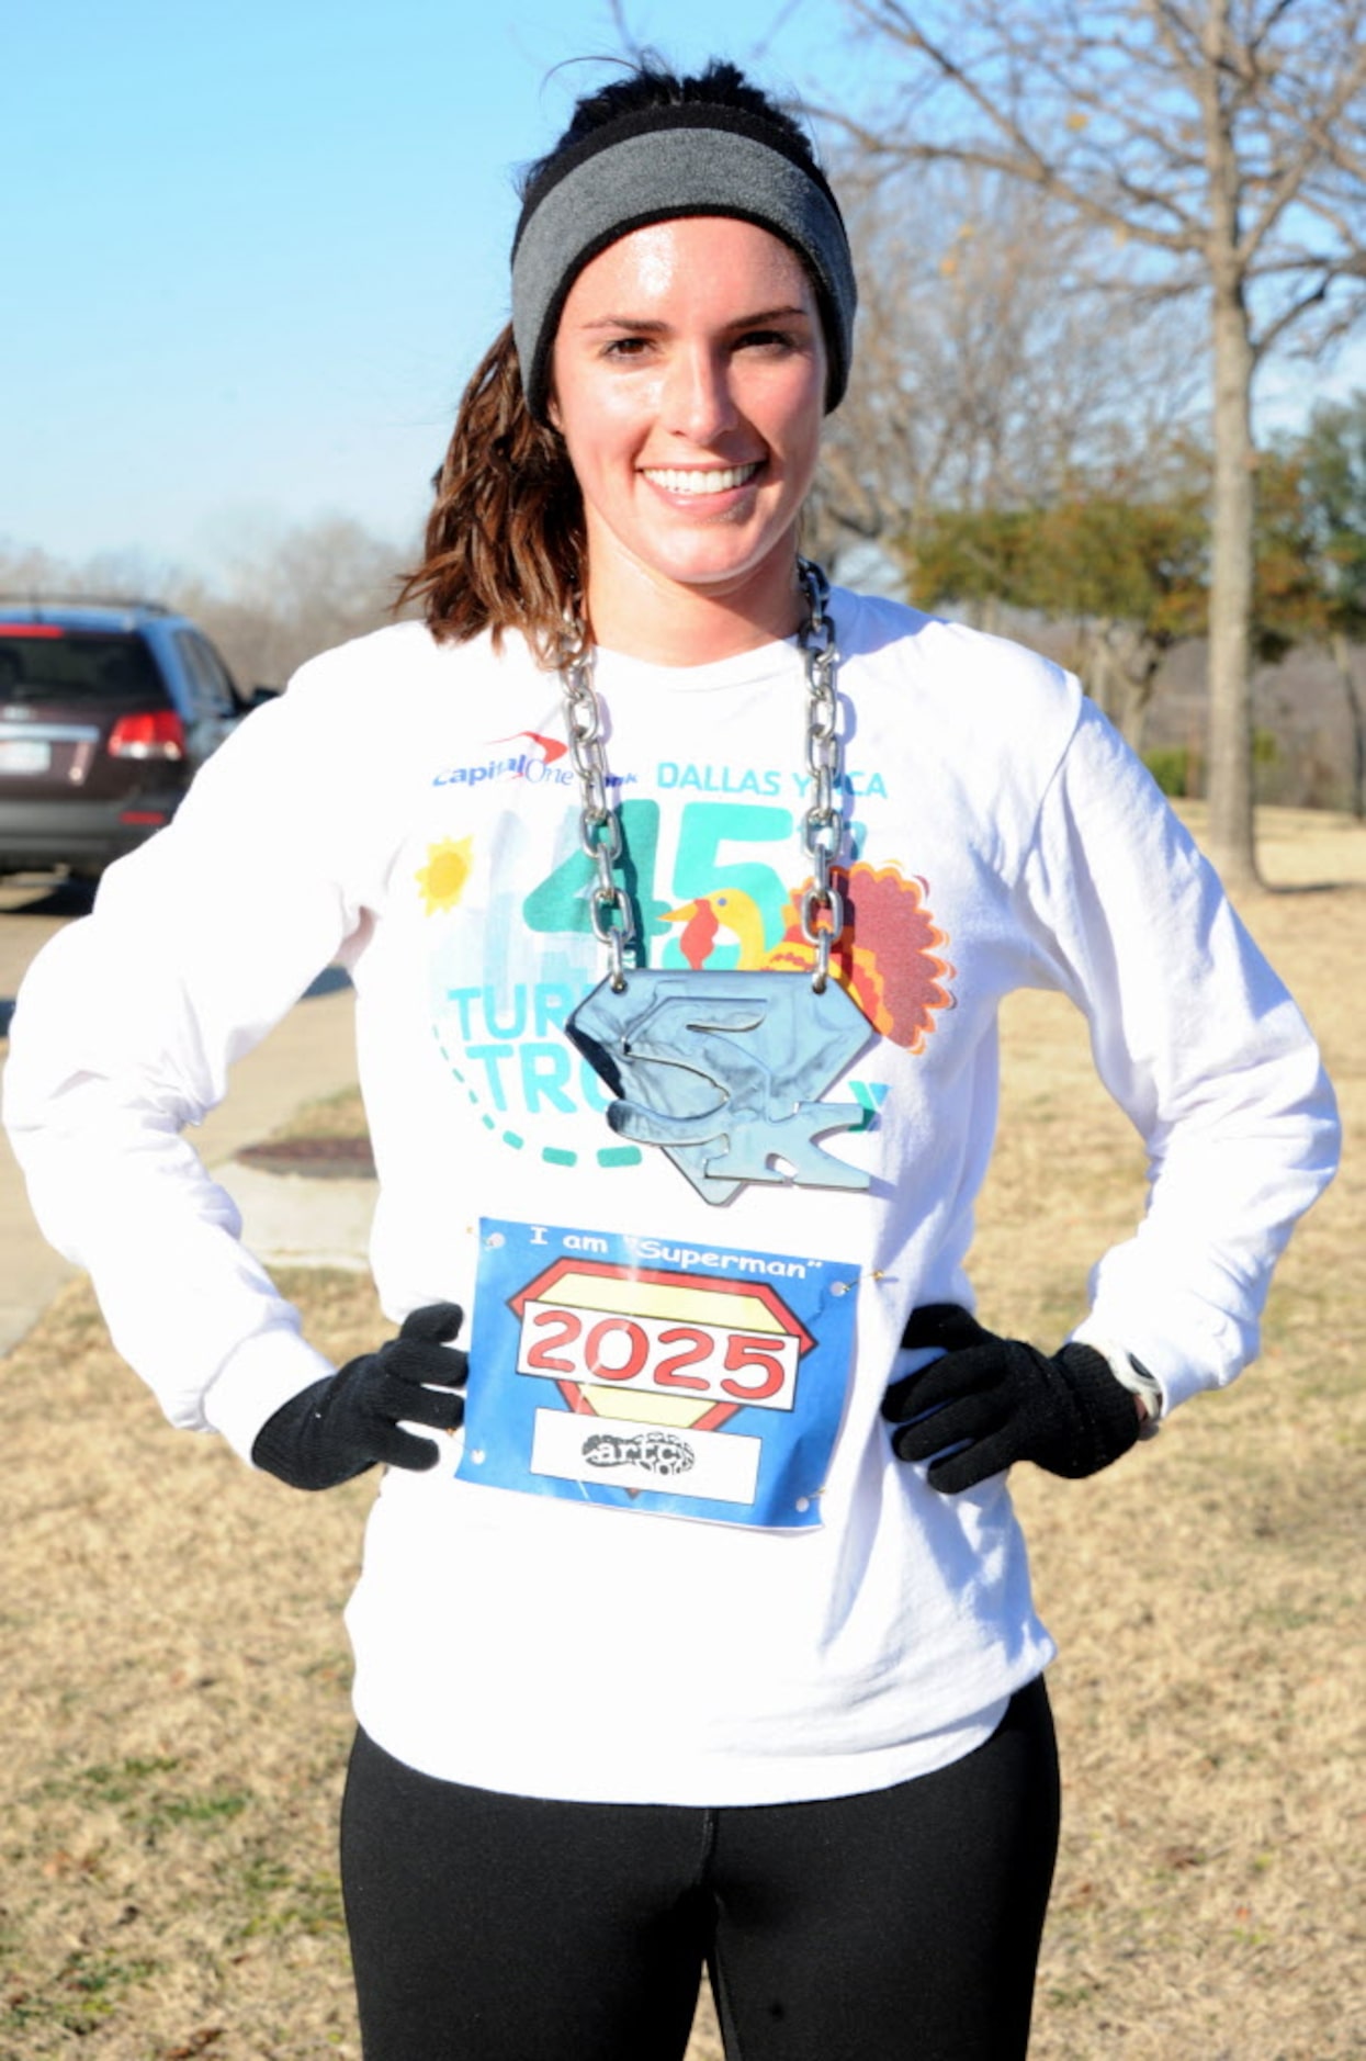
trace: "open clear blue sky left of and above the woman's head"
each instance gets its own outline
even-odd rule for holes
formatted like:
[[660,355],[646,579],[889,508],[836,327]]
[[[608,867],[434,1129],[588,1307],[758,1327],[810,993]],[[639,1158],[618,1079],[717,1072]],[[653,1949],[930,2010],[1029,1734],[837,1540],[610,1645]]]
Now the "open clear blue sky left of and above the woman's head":
[[[781,87],[839,19],[628,6]],[[212,575],[342,513],[406,546],[507,319],[511,169],[602,76],[550,74],[616,47],[606,0],[0,0],[0,544]]]

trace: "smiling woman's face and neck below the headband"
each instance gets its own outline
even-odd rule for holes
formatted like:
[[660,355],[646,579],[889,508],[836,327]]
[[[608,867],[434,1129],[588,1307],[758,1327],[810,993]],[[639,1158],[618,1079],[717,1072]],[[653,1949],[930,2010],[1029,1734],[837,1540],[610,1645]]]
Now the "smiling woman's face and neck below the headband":
[[653,223],[583,268],[550,406],[583,488],[600,639],[620,641],[604,622],[612,602],[651,589],[742,606],[773,589],[791,612],[824,392],[812,282],[766,229]]

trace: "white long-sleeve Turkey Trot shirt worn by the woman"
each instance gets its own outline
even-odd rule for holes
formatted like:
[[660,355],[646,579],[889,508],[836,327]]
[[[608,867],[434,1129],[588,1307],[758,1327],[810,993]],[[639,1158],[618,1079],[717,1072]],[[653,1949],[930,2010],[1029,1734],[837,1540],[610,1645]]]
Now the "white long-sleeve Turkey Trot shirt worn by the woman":
[[[604,965],[558,682],[517,639],[404,624],[305,666],[25,981],[6,1123],[39,1222],[167,1416],[249,1455],[328,1362],[183,1131],[348,967],[381,1300],[462,1303],[474,1354],[470,1430],[385,1476],[348,1612],[361,1723],[426,1772],[841,1795],[970,1750],[1047,1663],[1005,1480],[935,1494],[878,1414],[909,1311],[972,1303],[1012,989],[1073,998],[1146,1142],[1146,1214],[1078,1319],[1164,1410],[1257,1352],[1331,1177],[1298,1010],[1075,682],[888,602],[832,612],[869,1028],[804,1090],[843,1105],[820,1185],[779,1158],[717,1204],[608,1127],[565,1035]],[[600,653],[597,692],[649,967],[810,991],[797,651]]]

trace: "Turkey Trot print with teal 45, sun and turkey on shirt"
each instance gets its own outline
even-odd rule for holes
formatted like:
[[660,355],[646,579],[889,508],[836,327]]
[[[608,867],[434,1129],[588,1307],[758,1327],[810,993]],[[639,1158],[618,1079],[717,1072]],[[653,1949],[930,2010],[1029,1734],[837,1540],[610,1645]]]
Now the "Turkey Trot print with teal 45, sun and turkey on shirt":
[[[620,1049],[612,1047],[612,1063],[600,1070],[595,1059],[610,1041],[593,1039],[589,1057],[589,1047],[569,1033],[575,1010],[602,981],[604,958],[591,930],[593,868],[581,849],[573,773],[562,758],[550,761],[538,750],[546,750],[546,740],[525,732],[513,744],[499,740],[497,752],[490,746],[486,763],[445,769],[433,796],[441,808],[455,808],[453,835],[429,835],[414,851],[420,864],[412,866],[410,880],[426,930],[431,1022],[455,1092],[497,1150],[544,1167],[610,1171],[616,1179],[641,1164],[643,1150],[665,1144],[670,1121],[680,1115],[692,1121],[698,1107],[733,1101],[731,1061],[748,1063],[748,1053],[758,1051],[764,1080],[760,1068],[748,1063],[754,1094],[742,1111],[752,1131],[764,1103],[775,1101],[769,1092],[773,1051],[766,1045],[760,1051],[756,1030],[731,1024],[725,1045],[713,1039],[713,1059],[727,1061],[725,1078],[715,1066],[707,1070],[692,1096],[698,1107],[672,1107],[676,1099],[665,1094],[668,1076],[657,1063],[637,1078],[635,1090],[624,1090],[614,1080]],[[668,981],[696,975],[688,991],[709,1006],[717,973],[754,975],[756,995],[775,995],[777,975],[810,985],[814,948],[804,938],[799,913],[806,866],[797,796],[804,781],[793,777],[789,804],[789,781],[785,777],[779,787],[775,771],[764,773],[764,785],[748,789],[746,769],[723,769],[717,783],[711,773],[707,769],[703,791],[717,798],[684,793],[690,783],[672,765],[641,779],[626,769],[614,783],[622,878],[635,909],[641,967],[657,969]],[[641,791],[649,777],[659,785],[659,800]],[[668,793],[674,779],[678,796]],[[861,775],[847,806],[869,796],[876,779]],[[742,800],[744,793],[773,800]],[[855,851],[861,835],[861,824],[853,822]],[[839,1131],[876,1127],[886,1092],[876,1078],[869,1030],[909,1053],[923,1051],[942,1012],[954,1006],[954,969],[919,876],[894,861],[872,866],[853,857],[843,874],[843,899],[849,923],[830,971],[857,1008],[863,1035],[839,1053],[839,1066],[818,1088],[783,1092],[777,1101],[791,1115],[801,1099],[816,1105],[834,1094],[836,1076],[851,1070],[836,1096],[847,1107],[826,1123],[820,1152],[804,1146],[781,1162],[789,1169],[785,1179],[853,1187],[861,1183],[845,1181],[839,1171]],[[684,1028],[696,1053],[692,1026]],[[865,1043],[869,1078],[855,1066],[855,1051]],[[624,1127],[622,1113],[608,1127],[608,1109],[622,1092],[653,1111],[649,1125],[657,1138],[641,1119],[635,1129]],[[663,1125],[659,1115],[668,1119]],[[812,1109],[804,1121],[806,1136],[814,1138],[824,1119]],[[789,1123],[789,1129],[795,1127]],[[736,1162],[733,1144],[729,1152]],[[750,1169],[760,1162],[775,1164],[752,1140],[742,1144],[740,1158],[746,1171],[738,1179],[754,1179]],[[721,1195],[707,1193],[707,1200]]]

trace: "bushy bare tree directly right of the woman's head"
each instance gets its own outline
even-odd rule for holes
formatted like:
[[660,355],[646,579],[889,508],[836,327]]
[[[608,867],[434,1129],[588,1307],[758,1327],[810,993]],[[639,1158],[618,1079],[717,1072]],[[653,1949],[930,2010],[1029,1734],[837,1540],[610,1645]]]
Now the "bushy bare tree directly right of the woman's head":
[[1191,410],[1189,324],[1096,284],[1098,233],[970,165],[834,177],[859,268],[849,396],[824,443],[812,540],[913,561],[933,515],[1040,507],[1086,478],[1156,484]]

